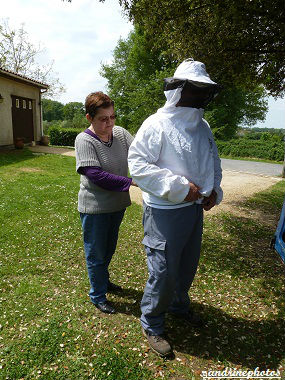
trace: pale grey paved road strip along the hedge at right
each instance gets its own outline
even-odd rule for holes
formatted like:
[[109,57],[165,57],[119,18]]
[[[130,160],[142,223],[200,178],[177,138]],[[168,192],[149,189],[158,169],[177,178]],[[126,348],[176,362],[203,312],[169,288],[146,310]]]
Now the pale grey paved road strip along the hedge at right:
[[276,177],[282,174],[282,165],[265,162],[229,160],[222,158],[223,170]]

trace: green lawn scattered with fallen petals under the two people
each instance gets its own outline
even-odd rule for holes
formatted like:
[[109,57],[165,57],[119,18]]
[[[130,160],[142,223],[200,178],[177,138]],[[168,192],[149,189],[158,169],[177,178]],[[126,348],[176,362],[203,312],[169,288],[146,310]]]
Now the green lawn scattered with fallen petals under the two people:
[[284,264],[269,249],[284,181],[242,205],[207,217],[191,289],[207,326],[167,317],[176,358],[162,360],[142,338],[140,300],[147,270],[141,207],[128,208],[111,264],[123,286],[119,313],[90,303],[75,159],[0,154],[0,379],[200,379],[201,371],[284,371]]

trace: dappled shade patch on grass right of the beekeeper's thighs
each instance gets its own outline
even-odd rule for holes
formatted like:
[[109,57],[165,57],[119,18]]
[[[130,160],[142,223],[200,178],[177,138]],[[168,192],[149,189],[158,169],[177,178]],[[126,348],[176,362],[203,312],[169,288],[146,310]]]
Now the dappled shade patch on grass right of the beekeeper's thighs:
[[250,218],[220,214],[205,229],[202,267],[218,266],[219,271],[234,276],[269,279],[282,272],[281,262],[270,249],[274,228]]

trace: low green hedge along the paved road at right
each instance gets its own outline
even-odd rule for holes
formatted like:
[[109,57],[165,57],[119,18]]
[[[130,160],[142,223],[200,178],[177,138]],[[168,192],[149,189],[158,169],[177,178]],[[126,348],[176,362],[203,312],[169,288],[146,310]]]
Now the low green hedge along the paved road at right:
[[251,157],[264,160],[283,161],[284,143],[244,138],[216,141],[219,154],[229,157]]

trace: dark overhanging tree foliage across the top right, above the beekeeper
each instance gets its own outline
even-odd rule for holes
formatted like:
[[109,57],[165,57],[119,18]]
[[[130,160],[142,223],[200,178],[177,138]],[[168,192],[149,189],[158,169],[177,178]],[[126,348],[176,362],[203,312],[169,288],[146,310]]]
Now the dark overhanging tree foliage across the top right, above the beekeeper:
[[[100,0],[99,0],[100,1]],[[104,0],[101,0],[104,2]],[[172,62],[204,62],[219,83],[285,93],[283,0],[119,0]]]

